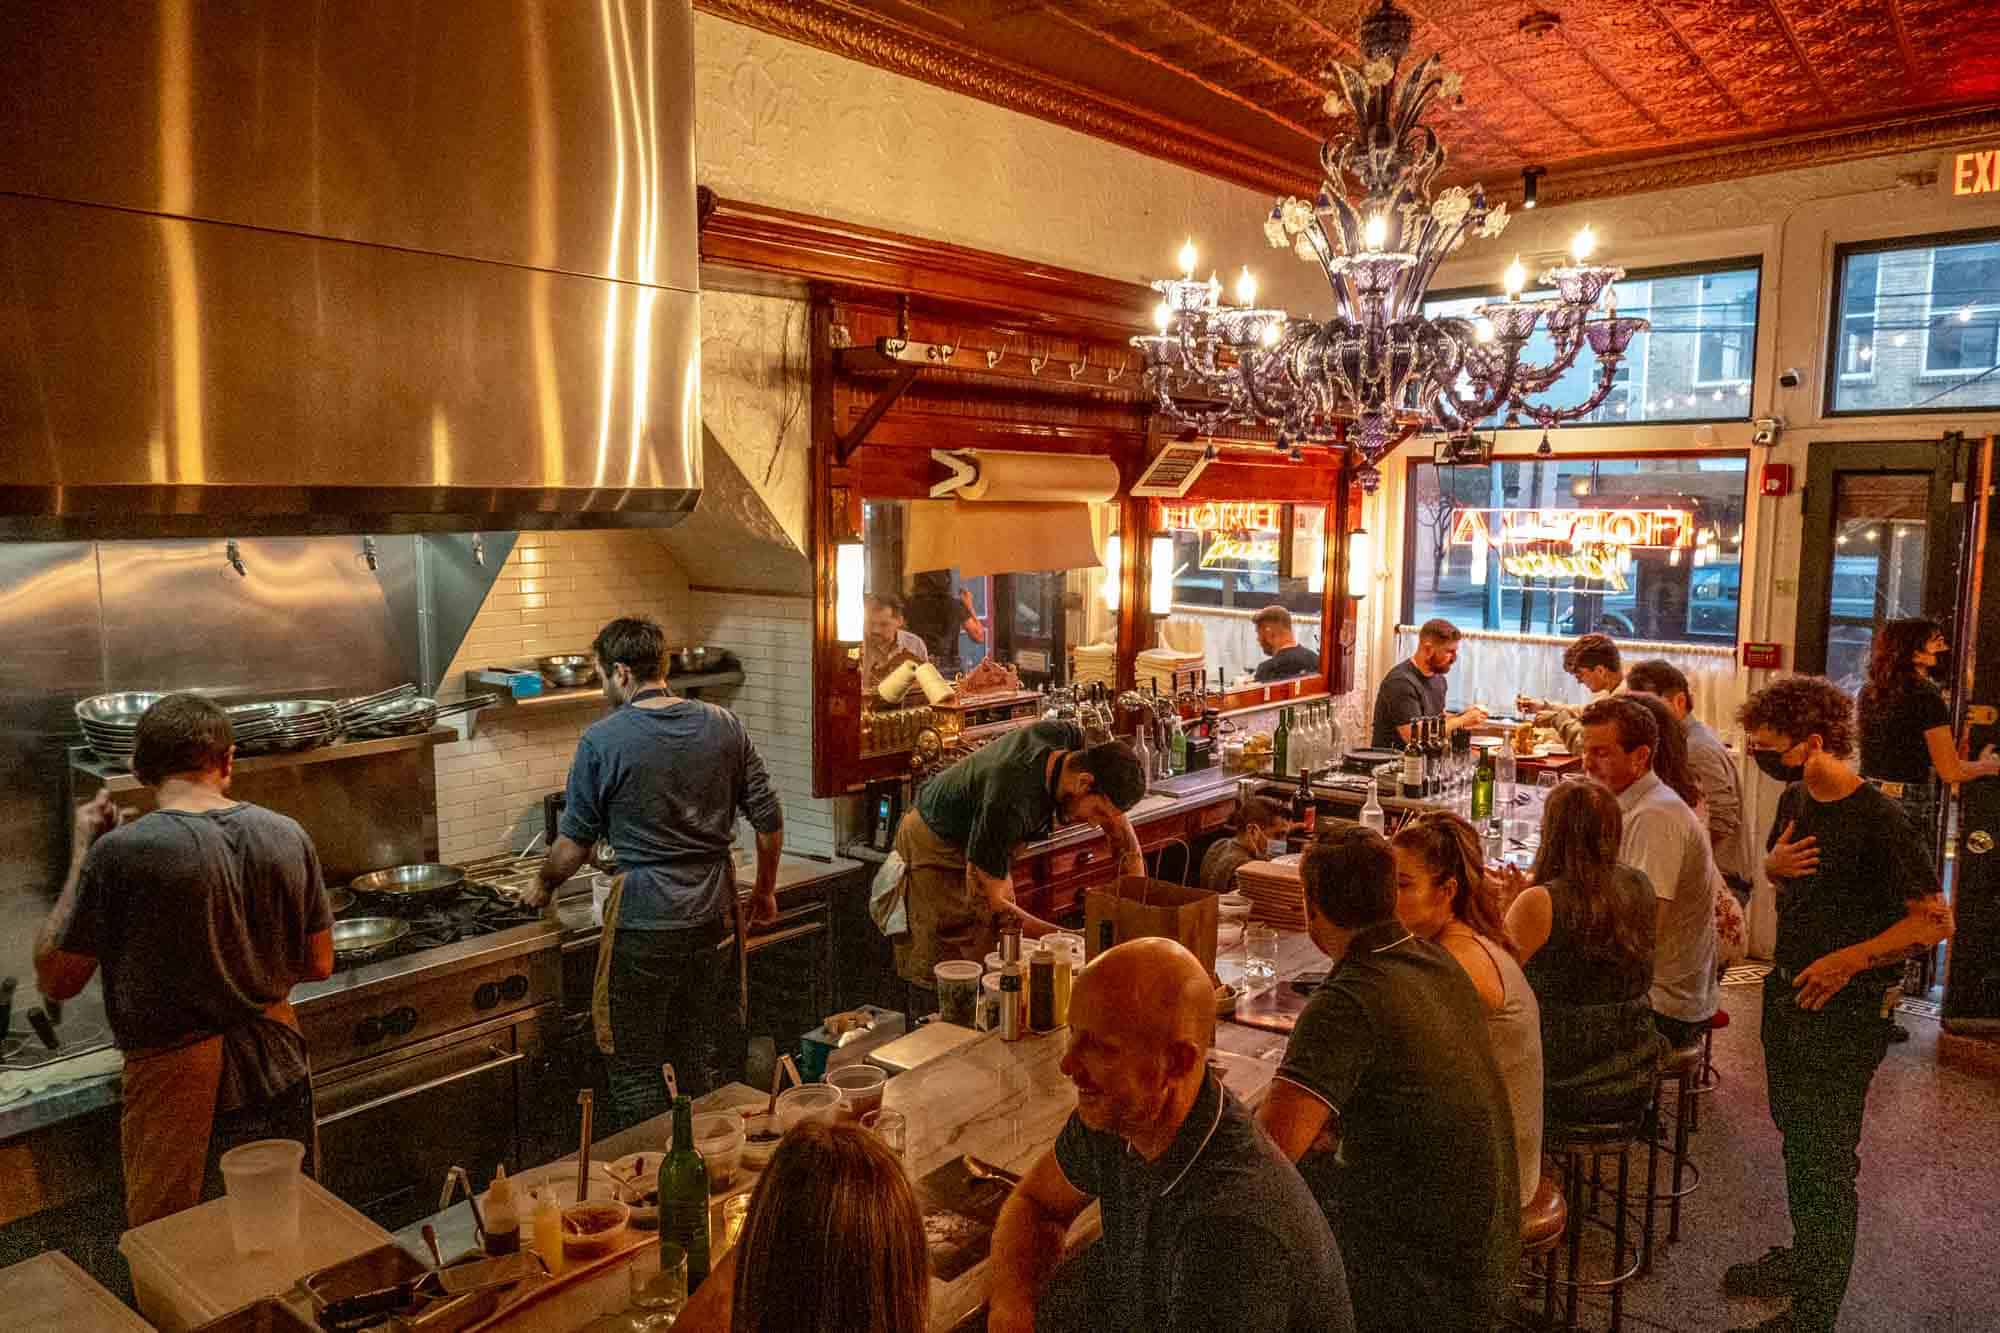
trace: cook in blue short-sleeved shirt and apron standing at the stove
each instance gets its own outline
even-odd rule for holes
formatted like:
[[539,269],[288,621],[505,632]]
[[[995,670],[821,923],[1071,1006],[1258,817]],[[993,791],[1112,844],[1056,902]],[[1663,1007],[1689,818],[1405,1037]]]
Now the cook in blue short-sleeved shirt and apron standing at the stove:
[[736,715],[666,687],[658,620],[612,620],[590,646],[612,713],[576,743],[560,833],[524,901],[548,903],[598,839],[618,857],[592,1011],[618,1123],[636,1125],[666,1111],[660,1065],[692,1095],[742,1065],[736,817],[756,829],[750,925],[764,925],[778,917],[784,813]]

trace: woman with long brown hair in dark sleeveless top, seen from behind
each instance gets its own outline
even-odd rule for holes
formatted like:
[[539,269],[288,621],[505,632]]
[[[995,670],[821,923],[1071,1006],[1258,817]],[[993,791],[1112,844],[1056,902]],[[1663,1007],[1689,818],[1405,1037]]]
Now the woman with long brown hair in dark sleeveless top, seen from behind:
[[1564,783],[1542,807],[1542,847],[1508,867],[1508,937],[1542,1009],[1548,1121],[1630,1121],[1652,1101],[1662,1039],[1652,1025],[1652,885],[1618,865],[1624,813],[1604,783]]

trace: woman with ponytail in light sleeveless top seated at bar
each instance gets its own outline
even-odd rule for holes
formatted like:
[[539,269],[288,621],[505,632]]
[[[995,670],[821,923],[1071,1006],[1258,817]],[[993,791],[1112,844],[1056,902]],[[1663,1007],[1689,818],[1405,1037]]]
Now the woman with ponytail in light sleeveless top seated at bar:
[[1428,811],[1396,831],[1396,919],[1466,969],[1514,1115],[1520,1205],[1542,1185],[1542,1007],[1514,961],[1500,901],[1486,883],[1478,831]]

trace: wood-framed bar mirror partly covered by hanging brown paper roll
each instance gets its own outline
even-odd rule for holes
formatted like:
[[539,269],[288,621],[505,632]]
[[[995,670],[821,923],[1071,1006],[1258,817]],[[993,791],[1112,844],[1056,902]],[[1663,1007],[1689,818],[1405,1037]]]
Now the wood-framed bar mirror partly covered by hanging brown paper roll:
[[1114,685],[1116,530],[1116,504],[868,500],[864,695],[904,662],[944,683],[992,662],[1030,691]]

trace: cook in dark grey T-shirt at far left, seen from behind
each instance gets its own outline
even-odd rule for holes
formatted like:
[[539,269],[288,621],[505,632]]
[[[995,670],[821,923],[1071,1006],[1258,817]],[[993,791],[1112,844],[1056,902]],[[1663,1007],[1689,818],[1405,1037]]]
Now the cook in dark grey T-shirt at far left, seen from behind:
[[76,809],[70,879],[34,945],[42,995],[104,969],[124,1053],[118,1147],[132,1227],[222,1195],[222,1153],[296,1139],[312,1169],[312,1079],[286,999],[334,975],[320,859],[294,821],[230,801],[230,719],[168,695],[138,721],[132,771],[154,811]]

